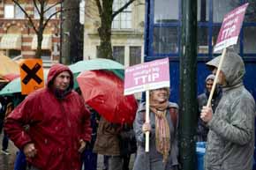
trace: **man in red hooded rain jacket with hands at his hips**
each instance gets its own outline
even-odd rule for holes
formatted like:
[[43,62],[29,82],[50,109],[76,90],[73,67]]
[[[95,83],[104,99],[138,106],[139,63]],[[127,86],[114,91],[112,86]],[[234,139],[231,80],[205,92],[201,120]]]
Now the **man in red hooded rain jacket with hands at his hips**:
[[4,129],[34,170],[81,169],[92,130],[90,113],[72,87],[72,71],[57,63],[47,87],[28,95],[6,119]]

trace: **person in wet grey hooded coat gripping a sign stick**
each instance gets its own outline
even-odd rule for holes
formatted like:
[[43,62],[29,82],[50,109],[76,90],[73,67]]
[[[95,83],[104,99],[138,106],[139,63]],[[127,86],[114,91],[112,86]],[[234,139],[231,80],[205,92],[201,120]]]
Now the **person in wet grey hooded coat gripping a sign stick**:
[[[207,63],[215,73],[221,56]],[[224,57],[218,84],[222,99],[215,114],[203,107],[200,117],[207,122],[205,170],[252,170],[255,102],[243,85],[245,63],[232,49]]]

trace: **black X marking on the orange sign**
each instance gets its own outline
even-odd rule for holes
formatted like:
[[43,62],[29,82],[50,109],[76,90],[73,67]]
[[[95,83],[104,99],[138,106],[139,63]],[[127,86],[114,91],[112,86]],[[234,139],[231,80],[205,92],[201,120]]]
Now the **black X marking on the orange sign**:
[[37,84],[41,84],[42,80],[36,75],[36,72],[40,70],[41,65],[39,63],[36,63],[34,65],[34,68],[30,70],[25,63],[21,65],[21,69],[25,70],[26,77],[23,78],[22,82],[26,85],[31,79],[34,79]]

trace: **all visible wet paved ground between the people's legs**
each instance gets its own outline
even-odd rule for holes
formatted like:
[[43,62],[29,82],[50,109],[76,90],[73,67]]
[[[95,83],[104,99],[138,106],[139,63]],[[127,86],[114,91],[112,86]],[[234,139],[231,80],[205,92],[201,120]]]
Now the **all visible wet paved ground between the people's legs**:
[[[1,150],[2,150],[2,139],[3,139],[3,134],[0,135]],[[5,155],[0,152],[0,170],[13,170],[15,156],[18,149],[11,141],[9,141],[8,150],[11,153],[10,155]],[[132,170],[134,158],[135,158],[135,154],[132,154],[131,160],[130,160],[130,166],[129,166],[130,170]],[[98,155],[97,170],[102,170],[102,168],[103,168],[103,156]]]

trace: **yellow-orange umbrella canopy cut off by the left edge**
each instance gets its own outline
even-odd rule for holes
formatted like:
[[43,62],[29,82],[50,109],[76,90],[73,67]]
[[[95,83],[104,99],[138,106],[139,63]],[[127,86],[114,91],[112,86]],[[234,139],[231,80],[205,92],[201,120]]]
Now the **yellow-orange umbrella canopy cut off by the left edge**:
[[0,55],[0,77],[7,74],[19,74],[19,64],[15,63],[8,56]]

